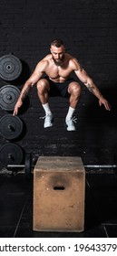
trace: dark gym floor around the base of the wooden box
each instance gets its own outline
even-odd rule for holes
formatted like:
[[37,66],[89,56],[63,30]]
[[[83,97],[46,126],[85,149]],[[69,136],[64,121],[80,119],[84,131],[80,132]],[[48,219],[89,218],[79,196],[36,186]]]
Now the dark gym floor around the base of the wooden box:
[[0,172],[1,238],[117,238],[116,172],[86,172],[83,232],[33,231],[33,176]]

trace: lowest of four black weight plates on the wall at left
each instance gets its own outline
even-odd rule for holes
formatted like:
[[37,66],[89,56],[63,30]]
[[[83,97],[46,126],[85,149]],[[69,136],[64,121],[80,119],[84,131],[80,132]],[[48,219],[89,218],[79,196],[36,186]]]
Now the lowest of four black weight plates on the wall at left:
[[23,161],[23,150],[18,144],[5,144],[0,148],[0,162],[7,165],[20,165]]

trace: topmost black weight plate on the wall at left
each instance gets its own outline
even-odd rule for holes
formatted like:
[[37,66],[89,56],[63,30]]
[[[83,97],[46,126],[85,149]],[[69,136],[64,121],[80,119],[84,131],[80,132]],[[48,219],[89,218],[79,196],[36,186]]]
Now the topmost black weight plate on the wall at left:
[[0,77],[3,80],[15,80],[22,72],[20,59],[12,54],[0,58]]

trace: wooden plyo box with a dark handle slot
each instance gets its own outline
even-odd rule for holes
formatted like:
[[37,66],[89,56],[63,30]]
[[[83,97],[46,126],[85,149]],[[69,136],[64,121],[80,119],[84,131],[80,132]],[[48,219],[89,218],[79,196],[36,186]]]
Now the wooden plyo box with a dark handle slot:
[[40,156],[34,167],[33,229],[83,231],[84,194],[81,157]]

